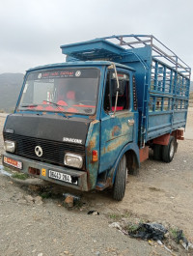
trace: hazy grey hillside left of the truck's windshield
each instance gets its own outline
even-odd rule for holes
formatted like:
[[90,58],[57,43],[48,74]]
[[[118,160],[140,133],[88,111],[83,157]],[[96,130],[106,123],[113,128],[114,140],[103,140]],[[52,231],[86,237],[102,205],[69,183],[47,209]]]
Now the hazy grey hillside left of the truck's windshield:
[[0,74],[0,111],[13,112],[22,81],[22,73]]

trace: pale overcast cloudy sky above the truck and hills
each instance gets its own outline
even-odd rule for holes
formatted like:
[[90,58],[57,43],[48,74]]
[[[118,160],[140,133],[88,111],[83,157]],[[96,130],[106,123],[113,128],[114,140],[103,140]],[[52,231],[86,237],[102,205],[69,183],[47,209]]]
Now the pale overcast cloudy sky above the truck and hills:
[[60,45],[155,36],[193,68],[193,0],[0,0],[0,73],[65,62]]

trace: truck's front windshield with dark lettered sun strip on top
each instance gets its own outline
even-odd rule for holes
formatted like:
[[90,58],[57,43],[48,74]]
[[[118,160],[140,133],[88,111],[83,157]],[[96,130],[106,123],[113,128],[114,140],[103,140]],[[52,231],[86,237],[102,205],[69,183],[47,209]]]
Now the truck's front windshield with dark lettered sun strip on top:
[[25,82],[18,109],[93,115],[98,77],[97,69],[32,72]]

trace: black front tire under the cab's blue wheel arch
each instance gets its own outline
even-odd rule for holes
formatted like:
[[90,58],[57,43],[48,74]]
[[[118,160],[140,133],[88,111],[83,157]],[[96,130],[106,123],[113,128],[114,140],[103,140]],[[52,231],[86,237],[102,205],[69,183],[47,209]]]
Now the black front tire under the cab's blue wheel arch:
[[115,182],[113,185],[113,198],[117,201],[122,201],[124,198],[126,178],[126,156],[124,155],[119,162]]

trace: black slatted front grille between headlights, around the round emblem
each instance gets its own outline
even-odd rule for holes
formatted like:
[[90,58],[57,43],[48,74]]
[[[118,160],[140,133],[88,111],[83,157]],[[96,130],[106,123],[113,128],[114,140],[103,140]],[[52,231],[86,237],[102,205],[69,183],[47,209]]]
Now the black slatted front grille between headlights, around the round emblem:
[[[31,159],[46,161],[57,165],[64,165],[64,156],[66,152],[85,156],[85,147],[82,145],[32,138],[6,132],[4,132],[4,139],[16,142],[15,155],[25,156]],[[35,154],[36,146],[41,146],[41,157]]]

